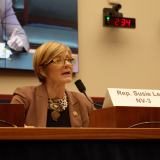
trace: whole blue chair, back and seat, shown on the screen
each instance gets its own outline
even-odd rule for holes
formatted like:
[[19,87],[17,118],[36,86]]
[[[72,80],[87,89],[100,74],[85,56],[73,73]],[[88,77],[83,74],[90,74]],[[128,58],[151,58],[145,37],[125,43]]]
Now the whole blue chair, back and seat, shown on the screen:
[[23,29],[31,48],[57,41],[77,51],[77,0],[24,0]]

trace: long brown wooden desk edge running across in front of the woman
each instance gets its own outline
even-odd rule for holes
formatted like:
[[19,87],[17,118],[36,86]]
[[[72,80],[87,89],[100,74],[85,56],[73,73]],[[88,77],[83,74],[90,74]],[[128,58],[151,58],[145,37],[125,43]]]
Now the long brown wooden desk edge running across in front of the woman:
[[159,128],[0,128],[0,140],[160,139]]

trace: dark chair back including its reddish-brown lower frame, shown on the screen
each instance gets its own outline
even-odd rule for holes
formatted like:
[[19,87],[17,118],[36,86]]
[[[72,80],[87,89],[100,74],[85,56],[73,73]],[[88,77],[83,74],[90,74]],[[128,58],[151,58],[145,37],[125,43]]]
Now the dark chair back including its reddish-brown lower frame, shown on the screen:
[[77,0],[25,0],[24,25],[31,22],[77,29]]

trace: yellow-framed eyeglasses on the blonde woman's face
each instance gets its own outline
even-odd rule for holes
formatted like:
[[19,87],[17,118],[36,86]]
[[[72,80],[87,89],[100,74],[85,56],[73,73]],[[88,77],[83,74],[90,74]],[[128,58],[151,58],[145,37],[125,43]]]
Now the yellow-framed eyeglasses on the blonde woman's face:
[[[75,57],[69,57],[69,58],[56,58],[51,60],[49,63],[54,62],[58,67],[63,67],[65,65],[65,61],[70,63],[71,66],[75,65],[76,58]],[[47,63],[47,64],[49,64]],[[45,65],[47,65],[45,64]]]

